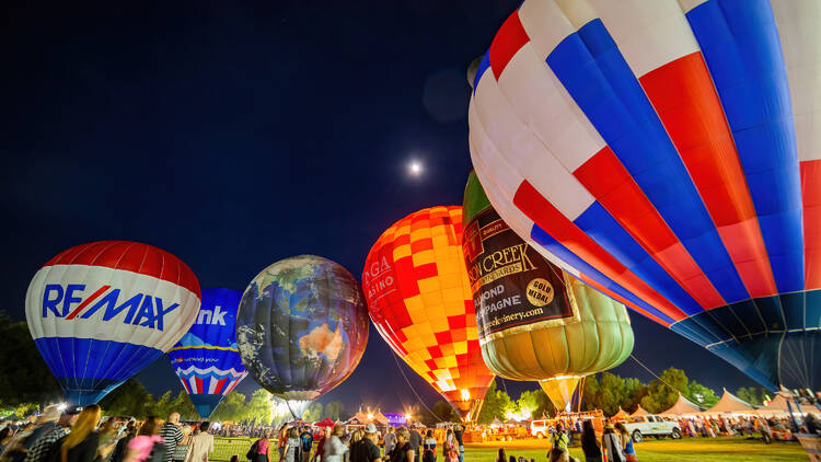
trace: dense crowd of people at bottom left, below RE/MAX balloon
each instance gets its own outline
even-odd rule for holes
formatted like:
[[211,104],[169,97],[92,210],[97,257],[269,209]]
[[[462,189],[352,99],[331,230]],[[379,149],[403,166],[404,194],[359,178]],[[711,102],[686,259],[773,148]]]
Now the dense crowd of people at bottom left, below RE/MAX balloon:
[[59,411],[0,429],[0,462],[208,462],[213,452],[210,423],[182,425],[148,417],[102,419],[96,404]]

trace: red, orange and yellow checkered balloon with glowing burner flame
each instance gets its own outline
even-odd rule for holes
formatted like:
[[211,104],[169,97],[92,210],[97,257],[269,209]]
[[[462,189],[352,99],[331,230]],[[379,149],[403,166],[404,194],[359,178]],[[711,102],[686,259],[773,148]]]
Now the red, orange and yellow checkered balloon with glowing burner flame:
[[461,242],[462,207],[412,213],[371,247],[362,288],[382,338],[471,420],[494,374],[482,360]]

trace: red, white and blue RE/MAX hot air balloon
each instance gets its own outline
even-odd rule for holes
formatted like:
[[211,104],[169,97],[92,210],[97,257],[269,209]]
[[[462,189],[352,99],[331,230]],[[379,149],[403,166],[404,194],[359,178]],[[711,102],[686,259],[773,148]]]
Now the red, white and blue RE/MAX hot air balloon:
[[25,315],[66,399],[84,406],[167,351],[199,300],[197,277],[174,255],[100,241],[48,261],[28,285]]

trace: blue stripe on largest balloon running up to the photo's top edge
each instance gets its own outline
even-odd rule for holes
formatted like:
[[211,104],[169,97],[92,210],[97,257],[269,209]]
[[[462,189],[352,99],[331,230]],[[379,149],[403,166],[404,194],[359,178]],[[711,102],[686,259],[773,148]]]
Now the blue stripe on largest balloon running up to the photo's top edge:
[[709,0],[686,18],[732,131],[778,291],[802,290],[798,152],[770,2]]

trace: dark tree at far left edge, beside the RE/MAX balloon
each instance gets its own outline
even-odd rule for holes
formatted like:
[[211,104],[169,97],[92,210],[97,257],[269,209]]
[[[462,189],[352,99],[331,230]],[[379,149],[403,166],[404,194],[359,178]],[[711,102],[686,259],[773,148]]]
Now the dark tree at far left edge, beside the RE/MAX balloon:
[[28,325],[0,312],[0,404],[48,403],[62,399],[59,383],[37,350]]

